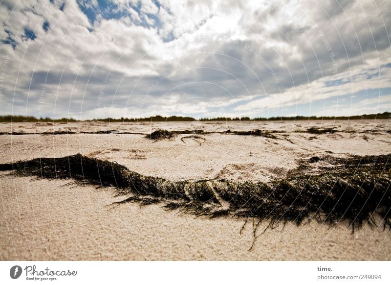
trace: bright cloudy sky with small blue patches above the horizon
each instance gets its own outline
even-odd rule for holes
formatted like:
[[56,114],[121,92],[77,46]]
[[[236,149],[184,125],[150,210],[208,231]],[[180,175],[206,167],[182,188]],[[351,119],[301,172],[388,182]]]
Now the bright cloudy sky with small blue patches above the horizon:
[[391,111],[390,0],[0,0],[0,115]]

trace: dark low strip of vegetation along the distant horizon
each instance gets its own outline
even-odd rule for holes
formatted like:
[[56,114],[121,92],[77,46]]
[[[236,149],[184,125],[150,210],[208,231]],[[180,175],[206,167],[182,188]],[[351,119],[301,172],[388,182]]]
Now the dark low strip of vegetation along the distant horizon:
[[[382,114],[364,114],[361,116],[350,116],[350,117],[305,117],[305,116],[295,116],[295,117],[270,117],[270,118],[254,118],[250,119],[249,117],[241,117],[241,118],[224,118],[224,117],[218,117],[218,118],[202,118],[199,119],[200,121],[281,121],[281,120],[346,120],[346,119],[391,119],[391,113],[390,112],[384,112]],[[162,117],[162,116],[152,116],[148,118],[120,118],[120,119],[112,119],[112,118],[105,118],[105,119],[91,119],[91,120],[83,120],[83,121],[104,121],[104,122],[137,122],[137,121],[152,121],[152,122],[164,122],[164,121],[195,121],[196,119],[192,117],[178,117],[178,116],[170,116],[170,117]],[[77,119],[68,119],[68,118],[61,118],[61,119],[51,119],[51,118],[36,118],[33,116],[12,116],[12,115],[6,115],[6,116],[0,116],[0,122],[76,122],[80,121]]]

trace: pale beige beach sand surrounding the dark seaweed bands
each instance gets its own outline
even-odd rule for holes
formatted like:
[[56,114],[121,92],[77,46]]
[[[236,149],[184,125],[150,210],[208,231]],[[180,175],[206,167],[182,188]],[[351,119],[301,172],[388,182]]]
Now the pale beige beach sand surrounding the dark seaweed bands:
[[[310,127],[340,132],[314,135]],[[279,139],[227,134],[154,142],[136,134],[27,135],[56,130],[151,133],[167,130],[279,130]],[[391,153],[388,120],[159,123],[9,123],[0,132],[0,163],[81,153],[116,161],[144,175],[170,180],[235,179],[268,182],[312,156]],[[370,133],[370,131],[373,131]],[[332,152],[332,153],[330,153]],[[322,162],[319,163],[320,165]],[[107,207],[113,188],[0,173],[2,260],[391,260],[391,234],[364,225],[352,234],[334,227],[287,223],[260,236],[251,251],[253,226],[231,217],[215,219],[167,212],[161,205]],[[266,226],[266,222],[263,228]],[[262,227],[258,231],[262,232]]]

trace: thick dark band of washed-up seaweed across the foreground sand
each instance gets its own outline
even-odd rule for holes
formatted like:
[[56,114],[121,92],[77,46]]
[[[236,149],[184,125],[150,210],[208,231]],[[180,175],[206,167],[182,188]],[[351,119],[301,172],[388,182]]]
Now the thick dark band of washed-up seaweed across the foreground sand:
[[[354,231],[364,221],[376,225],[375,214],[382,218],[384,229],[391,229],[390,157],[391,154],[312,157],[299,162],[284,178],[269,183],[170,181],[81,154],[0,164],[0,170],[13,170],[8,175],[72,178],[77,184],[114,186],[116,196],[128,196],[114,206],[126,202],[162,203],[166,210],[198,216],[252,217],[258,220],[257,226],[269,220],[267,228],[287,221],[300,225],[305,219],[330,225],[348,221]],[[327,166],[320,166],[320,161]]]

